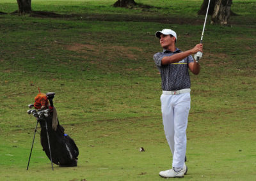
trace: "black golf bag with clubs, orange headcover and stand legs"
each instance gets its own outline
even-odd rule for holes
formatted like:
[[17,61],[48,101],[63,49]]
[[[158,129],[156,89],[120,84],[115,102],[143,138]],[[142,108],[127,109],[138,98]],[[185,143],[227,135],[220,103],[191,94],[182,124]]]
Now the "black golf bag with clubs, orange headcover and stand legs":
[[[39,93],[35,98],[34,104],[35,108],[38,110],[28,110],[28,114],[32,114],[37,120],[35,133],[38,123],[41,126],[41,145],[45,154],[51,160],[51,164],[54,163],[58,164],[59,166],[77,166],[77,156],[79,154],[79,150],[74,140],[65,134],[65,129],[59,123],[56,109],[54,108],[52,102],[54,95],[54,92],[48,92],[46,95]],[[50,105],[48,105],[48,100]],[[33,106],[29,105],[29,108],[33,108]],[[35,133],[29,154],[27,170],[35,141]]]

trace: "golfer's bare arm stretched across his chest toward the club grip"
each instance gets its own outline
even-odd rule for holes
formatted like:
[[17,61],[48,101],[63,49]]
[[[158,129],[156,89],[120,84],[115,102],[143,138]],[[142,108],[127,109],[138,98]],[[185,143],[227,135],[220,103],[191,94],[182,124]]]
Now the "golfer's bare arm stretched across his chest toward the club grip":
[[174,54],[170,57],[163,57],[161,64],[166,65],[166,64],[179,62],[182,59],[185,59],[186,57],[188,57],[188,55],[195,54],[196,52],[203,52],[203,44],[202,43],[197,44],[194,48],[192,48],[191,50],[187,50],[186,52],[180,52],[180,53]]

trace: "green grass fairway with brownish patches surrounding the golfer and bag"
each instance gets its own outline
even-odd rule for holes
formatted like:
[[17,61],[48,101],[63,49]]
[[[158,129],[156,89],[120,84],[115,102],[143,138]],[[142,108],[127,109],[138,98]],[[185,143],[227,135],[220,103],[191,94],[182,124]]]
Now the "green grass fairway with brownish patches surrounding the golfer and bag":
[[[136,2],[153,7],[32,0],[33,10],[66,16],[0,15],[0,180],[163,180],[158,173],[170,168],[172,156],[154,33],[171,28],[177,47],[192,48],[202,33],[202,1]],[[256,179],[255,6],[234,0],[239,15],[231,27],[206,26],[202,69],[191,75],[183,180]],[[16,1],[1,0],[0,11],[15,10]],[[37,87],[56,92],[60,124],[79,148],[75,168],[52,171],[36,134],[26,170],[36,125],[26,111]]]

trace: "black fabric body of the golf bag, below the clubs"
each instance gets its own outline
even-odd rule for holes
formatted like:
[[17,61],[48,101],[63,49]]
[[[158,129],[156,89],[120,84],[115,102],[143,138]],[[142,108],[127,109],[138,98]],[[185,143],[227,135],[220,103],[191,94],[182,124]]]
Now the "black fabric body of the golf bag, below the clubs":
[[[64,128],[60,126],[59,121],[55,131],[52,129],[52,113],[49,113],[48,117],[37,119],[41,126],[41,145],[47,157],[50,160],[52,158],[52,163],[59,166],[77,166],[78,148],[74,140],[64,133]],[[47,133],[51,152],[49,151]]]

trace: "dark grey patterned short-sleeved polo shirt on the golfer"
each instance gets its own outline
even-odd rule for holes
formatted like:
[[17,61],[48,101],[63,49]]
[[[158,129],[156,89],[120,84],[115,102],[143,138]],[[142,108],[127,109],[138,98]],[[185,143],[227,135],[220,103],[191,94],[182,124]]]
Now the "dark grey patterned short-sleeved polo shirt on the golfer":
[[175,52],[163,50],[163,52],[158,52],[154,55],[154,61],[161,74],[163,91],[178,91],[190,88],[188,64],[194,62],[192,55],[179,62],[167,65],[161,64],[163,57],[169,57],[180,52],[182,51],[176,48]]

